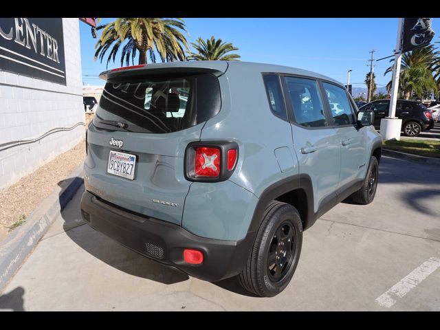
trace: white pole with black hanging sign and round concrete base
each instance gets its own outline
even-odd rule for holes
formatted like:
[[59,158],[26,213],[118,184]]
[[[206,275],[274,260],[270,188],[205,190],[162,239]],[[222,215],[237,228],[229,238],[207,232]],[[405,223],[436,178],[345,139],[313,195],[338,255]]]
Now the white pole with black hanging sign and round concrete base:
[[429,45],[434,36],[431,19],[399,19],[397,42],[391,85],[391,100],[388,117],[380,120],[380,134],[384,140],[400,140],[401,119],[395,117],[397,96],[399,94],[399,76],[401,54]]

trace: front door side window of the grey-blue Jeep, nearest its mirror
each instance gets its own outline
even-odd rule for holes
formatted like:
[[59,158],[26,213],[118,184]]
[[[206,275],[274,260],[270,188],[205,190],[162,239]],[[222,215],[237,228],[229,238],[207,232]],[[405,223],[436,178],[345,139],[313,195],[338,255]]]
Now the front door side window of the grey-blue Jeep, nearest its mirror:
[[336,126],[353,125],[355,116],[345,89],[329,83],[322,83],[325,90],[333,122]]

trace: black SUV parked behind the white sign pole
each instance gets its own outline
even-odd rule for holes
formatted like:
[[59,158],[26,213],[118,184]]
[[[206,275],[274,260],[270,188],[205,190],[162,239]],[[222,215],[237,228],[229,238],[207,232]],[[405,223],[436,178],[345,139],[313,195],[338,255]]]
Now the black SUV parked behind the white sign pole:
[[[374,111],[375,129],[380,128],[380,120],[388,116],[390,100],[376,100],[360,107],[360,111]],[[397,100],[396,117],[402,120],[401,130],[406,136],[417,136],[422,131],[434,127],[432,113],[420,101]]]

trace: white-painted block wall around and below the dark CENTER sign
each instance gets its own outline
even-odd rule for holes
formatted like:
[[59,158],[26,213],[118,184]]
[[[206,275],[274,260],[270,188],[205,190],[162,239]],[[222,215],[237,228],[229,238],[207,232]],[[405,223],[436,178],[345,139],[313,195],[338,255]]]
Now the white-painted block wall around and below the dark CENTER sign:
[[[30,140],[51,129],[85,122],[80,21],[63,19],[67,85],[3,72],[0,68],[0,144]],[[85,126],[0,151],[0,190],[68,151],[85,138]],[[0,148],[1,149],[1,148]]]

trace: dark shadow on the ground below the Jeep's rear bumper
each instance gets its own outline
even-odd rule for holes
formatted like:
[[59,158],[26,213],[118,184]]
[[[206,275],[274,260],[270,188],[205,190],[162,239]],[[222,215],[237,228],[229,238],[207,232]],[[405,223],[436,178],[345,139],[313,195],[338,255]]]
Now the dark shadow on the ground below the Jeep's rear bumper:
[[[60,181],[58,184],[63,186],[65,182]],[[72,202],[67,204],[66,208],[61,212],[61,217],[64,221],[63,230],[69,239],[72,239],[80,248],[100,261],[126,274],[147,278],[151,281],[167,285],[188,280],[188,275],[179,270],[129,250],[129,248],[125,248],[87,225],[81,217],[79,207],[83,191],[84,186],[81,185],[76,195],[74,195]],[[63,194],[60,195],[60,203],[62,201],[66,202],[66,196],[63,196]],[[78,265],[78,267],[80,266]]]

